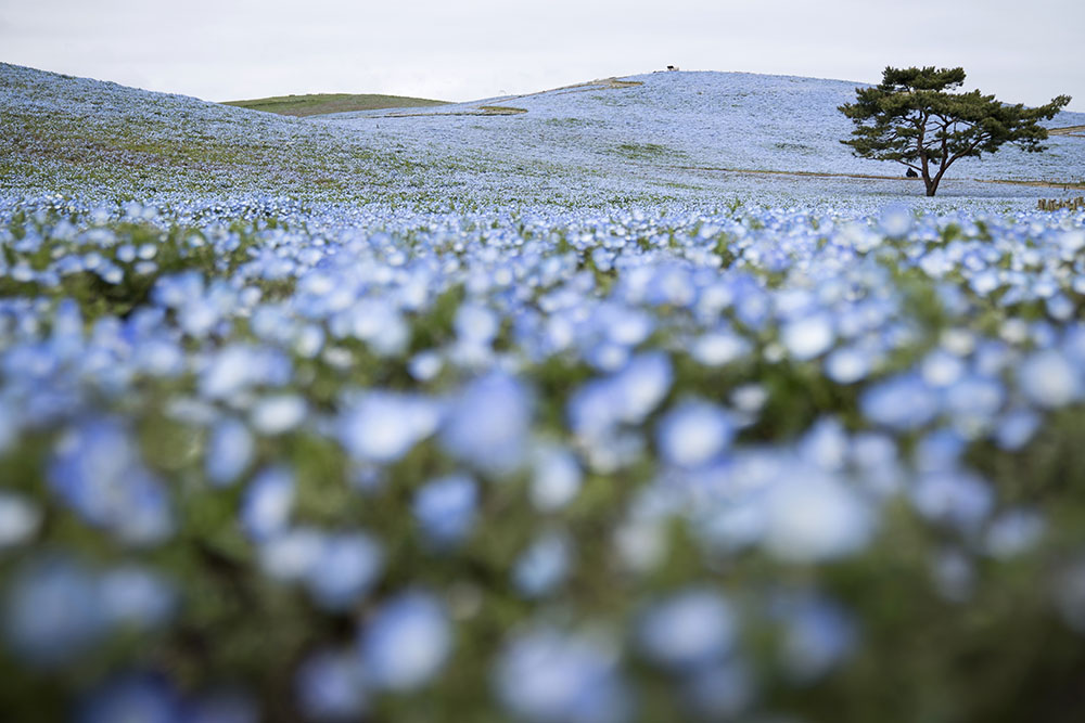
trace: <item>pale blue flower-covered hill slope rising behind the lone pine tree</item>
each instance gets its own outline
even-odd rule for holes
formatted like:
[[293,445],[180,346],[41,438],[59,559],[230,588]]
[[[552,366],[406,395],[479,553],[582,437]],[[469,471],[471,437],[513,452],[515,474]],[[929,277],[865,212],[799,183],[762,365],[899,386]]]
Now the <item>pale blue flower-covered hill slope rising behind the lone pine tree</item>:
[[[477,103],[441,108],[448,116],[383,124],[394,137],[424,134],[451,149],[489,147],[510,156],[562,159],[571,164],[621,166],[636,162],[666,168],[808,171],[903,176],[904,167],[855,158],[840,143],[851,121],[837,106],[855,99],[857,83],[742,73],[659,73],[557,89],[484,103],[516,106],[527,113],[480,125],[451,114]],[[358,127],[381,113],[347,114]],[[1063,113],[1051,127],[1085,120]],[[952,179],[1085,181],[1085,143],[1052,137],[1050,150],[1026,154],[1005,149],[991,158],[958,162]],[[946,189],[959,193],[958,189]]]

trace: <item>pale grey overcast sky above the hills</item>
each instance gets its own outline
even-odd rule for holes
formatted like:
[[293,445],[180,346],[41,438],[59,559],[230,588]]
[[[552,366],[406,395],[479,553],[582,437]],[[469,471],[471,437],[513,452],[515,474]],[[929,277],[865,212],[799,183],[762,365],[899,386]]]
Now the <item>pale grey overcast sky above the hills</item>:
[[225,101],[451,101],[677,64],[877,82],[961,65],[966,90],[1085,111],[1083,0],[0,0],[0,61]]

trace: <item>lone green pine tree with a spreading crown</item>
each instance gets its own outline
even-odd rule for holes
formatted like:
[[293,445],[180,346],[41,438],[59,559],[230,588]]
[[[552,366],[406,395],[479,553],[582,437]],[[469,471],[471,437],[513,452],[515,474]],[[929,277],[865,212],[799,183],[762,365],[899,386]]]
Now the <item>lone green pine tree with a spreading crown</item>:
[[853,138],[841,141],[854,155],[895,160],[919,172],[933,196],[946,170],[959,158],[981,157],[1012,143],[1045,151],[1050,120],[1069,102],[1059,95],[1047,105],[1007,105],[979,90],[953,92],[965,82],[963,68],[886,67],[882,81],[856,88],[856,101],[838,109],[855,122]]

